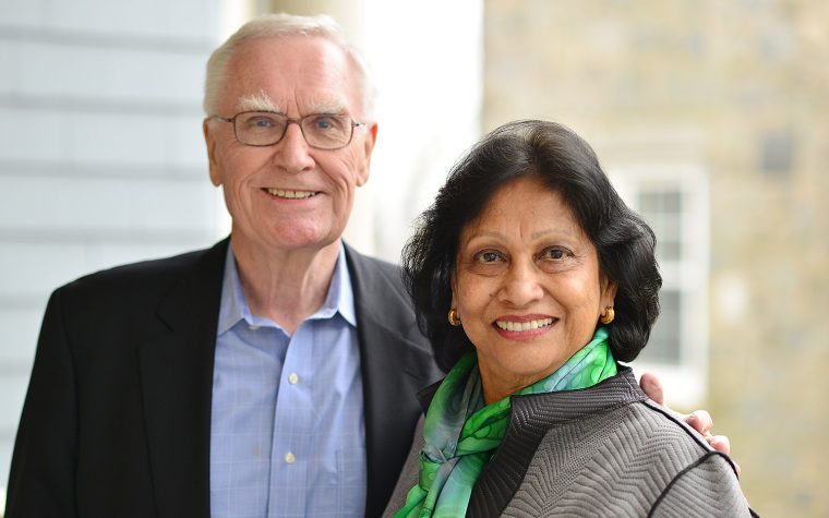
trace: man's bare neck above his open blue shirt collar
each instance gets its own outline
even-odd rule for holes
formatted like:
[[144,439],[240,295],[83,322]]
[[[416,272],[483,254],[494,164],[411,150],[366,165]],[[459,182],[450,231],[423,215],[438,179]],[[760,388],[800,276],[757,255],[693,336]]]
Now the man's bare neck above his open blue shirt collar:
[[231,239],[239,279],[251,314],[265,316],[292,335],[325,302],[339,240],[322,249],[276,250]]

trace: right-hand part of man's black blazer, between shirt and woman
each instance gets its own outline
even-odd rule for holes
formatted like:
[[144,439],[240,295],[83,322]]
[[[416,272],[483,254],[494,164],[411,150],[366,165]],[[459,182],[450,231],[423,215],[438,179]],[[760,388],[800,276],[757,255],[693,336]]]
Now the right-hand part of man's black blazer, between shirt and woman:
[[346,248],[357,311],[365,415],[365,516],[392,495],[421,413],[416,397],[441,372],[417,328],[399,270]]

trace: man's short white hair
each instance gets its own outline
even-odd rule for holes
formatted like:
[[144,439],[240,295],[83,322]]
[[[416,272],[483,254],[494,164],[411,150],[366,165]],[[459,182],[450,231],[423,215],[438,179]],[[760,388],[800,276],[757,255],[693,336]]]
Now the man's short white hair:
[[207,60],[207,75],[204,82],[204,110],[207,116],[216,115],[218,96],[227,81],[227,65],[233,53],[248,41],[274,36],[322,36],[343,49],[357,73],[357,88],[362,103],[360,116],[363,120],[371,119],[374,109],[374,85],[364,61],[343,35],[337,22],[326,14],[297,16],[286,13],[263,14],[251,20],[213,51]]

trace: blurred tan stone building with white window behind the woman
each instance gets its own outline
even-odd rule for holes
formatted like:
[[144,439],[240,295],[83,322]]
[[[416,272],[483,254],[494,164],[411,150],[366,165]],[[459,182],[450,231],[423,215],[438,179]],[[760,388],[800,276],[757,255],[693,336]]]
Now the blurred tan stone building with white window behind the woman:
[[760,514],[829,516],[829,4],[484,5],[485,129],[569,125],[657,231],[635,366],[689,376],[669,402],[712,412]]

